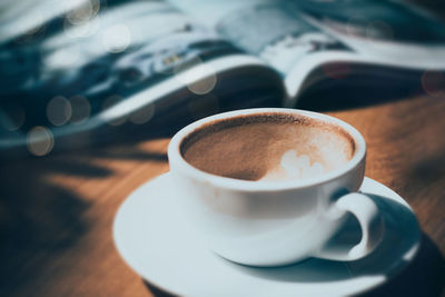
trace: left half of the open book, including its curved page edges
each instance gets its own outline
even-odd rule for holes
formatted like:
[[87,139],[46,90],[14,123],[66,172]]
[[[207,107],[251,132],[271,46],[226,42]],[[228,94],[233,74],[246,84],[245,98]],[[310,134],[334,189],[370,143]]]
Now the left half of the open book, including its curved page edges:
[[283,101],[276,71],[166,1],[72,1],[0,4],[8,156],[28,154],[34,129],[72,149]]

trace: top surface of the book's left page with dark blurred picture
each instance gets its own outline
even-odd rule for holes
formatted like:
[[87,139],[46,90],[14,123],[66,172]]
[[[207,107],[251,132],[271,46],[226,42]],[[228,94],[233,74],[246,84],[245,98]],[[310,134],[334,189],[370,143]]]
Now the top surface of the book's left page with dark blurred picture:
[[[221,69],[204,66],[207,61],[246,56],[165,1],[108,1],[102,6],[96,1],[95,7],[92,1],[81,0],[76,7],[56,6],[50,0],[23,1],[33,4],[32,9],[21,1],[16,1],[19,6],[7,1],[0,16],[40,22],[27,23],[27,33],[19,33],[10,22],[1,23],[0,32],[8,39],[0,39],[0,98],[3,109],[24,115],[19,125],[24,129],[83,122],[121,102],[125,107],[118,109],[128,113],[161,93],[151,99],[145,96],[145,100],[129,98],[162,83],[162,93],[179,88],[210,91],[214,80],[196,86],[192,75],[181,73],[195,67],[215,78]],[[198,77],[206,75],[202,71]],[[47,115],[47,108],[57,103],[69,106],[70,115]],[[77,105],[85,109],[79,116],[75,115]]]

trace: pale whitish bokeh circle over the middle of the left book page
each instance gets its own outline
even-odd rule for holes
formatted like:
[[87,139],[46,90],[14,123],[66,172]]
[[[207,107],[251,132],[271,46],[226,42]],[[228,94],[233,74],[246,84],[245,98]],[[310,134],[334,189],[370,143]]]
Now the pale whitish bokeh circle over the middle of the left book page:
[[102,44],[109,52],[125,51],[131,43],[131,33],[127,26],[115,24],[107,28],[102,33]]

